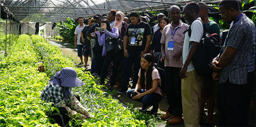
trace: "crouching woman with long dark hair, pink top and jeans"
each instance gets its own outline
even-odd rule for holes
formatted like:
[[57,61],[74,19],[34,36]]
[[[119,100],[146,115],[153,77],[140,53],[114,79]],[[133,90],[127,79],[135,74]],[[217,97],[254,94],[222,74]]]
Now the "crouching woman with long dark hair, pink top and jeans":
[[140,60],[139,79],[135,89],[128,90],[128,98],[142,102],[143,106],[140,111],[146,111],[153,106],[151,114],[157,114],[159,102],[162,100],[160,74],[154,68],[153,56],[144,54]]

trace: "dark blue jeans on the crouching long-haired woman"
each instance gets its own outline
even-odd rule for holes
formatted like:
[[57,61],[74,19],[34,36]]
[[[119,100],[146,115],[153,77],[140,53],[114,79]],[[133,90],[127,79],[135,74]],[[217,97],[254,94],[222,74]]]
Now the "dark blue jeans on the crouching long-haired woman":
[[[132,92],[134,92],[134,90],[135,89],[131,89],[131,90],[128,90],[126,92],[126,95],[127,95],[128,98],[132,99],[131,94],[132,94]],[[138,90],[138,92],[143,93],[143,92],[146,92],[146,91],[144,91],[143,89],[140,89],[140,90]],[[155,106],[156,104],[158,104],[158,102],[160,102],[162,100],[162,98],[163,98],[163,96],[154,92],[154,93],[151,93],[151,94],[147,94],[147,95],[143,96],[140,99],[135,99],[135,100],[138,101],[138,102],[142,102],[142,104],[144,106]]]

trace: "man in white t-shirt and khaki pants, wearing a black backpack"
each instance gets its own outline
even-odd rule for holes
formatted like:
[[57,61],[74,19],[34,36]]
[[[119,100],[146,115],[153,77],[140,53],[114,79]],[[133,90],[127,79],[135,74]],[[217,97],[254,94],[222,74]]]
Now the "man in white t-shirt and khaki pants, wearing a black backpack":
[[[183,44],[183,67],[181,78],[181,97],[185,127],[199,127],[199,100],[201,96],[202,77],[197,75],[192,64],[192,57],[203,36],[203,23],[199,17],[199,5],[189,2],[183,8],[185,19],[191,24],[191,37],[186,32]],[[191,46],[189,46],[191,45]],[[190,48],[189,48],[190,47]]]

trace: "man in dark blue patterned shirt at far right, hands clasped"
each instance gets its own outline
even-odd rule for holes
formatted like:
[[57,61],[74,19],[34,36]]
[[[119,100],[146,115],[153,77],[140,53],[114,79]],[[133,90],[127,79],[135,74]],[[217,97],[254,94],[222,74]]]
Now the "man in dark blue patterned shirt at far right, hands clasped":
[[[222,0],[221,17],[233,25],[220,57],[213,59],[213,79],[220,82],[222,126],[246,126],[250,85],[247,83],[248,64],[253,54],[252,21],[244,15],[237,0]],[[219,75],[219,77],[218,77]],[[224,122],[223,122],[224,121]]]

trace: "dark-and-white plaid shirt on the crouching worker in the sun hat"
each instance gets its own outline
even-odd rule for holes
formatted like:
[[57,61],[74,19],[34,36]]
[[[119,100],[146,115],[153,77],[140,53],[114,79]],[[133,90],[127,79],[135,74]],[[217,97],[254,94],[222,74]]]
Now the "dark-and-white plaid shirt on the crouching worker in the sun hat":
[[49,83],[41,93],[40,98],[46,102],[53,102],[54,104],[64,99],[63,89],[60,85]]

